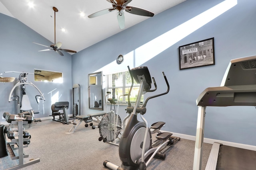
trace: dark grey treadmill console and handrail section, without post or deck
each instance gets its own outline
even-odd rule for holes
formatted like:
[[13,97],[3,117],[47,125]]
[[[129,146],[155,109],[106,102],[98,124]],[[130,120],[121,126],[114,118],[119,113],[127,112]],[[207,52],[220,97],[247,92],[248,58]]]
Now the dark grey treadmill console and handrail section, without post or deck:
[[221,85],[206,88],[197,106],[256,106],[256,56],[231,60]]

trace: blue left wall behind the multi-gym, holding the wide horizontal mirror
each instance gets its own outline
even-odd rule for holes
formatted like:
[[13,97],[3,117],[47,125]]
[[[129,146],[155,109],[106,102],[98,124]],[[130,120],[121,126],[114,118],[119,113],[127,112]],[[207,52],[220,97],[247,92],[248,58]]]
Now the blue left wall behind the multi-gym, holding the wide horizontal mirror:
[[[71,55],[64,52],[61,57],[54,51],[38,52],[46,49],[32,42],[50,45],[52,42],[16,20],[0,13],[0,73],[4,77],[18,78],[20,73],[4,73],[6,71],[30,72],[34,69],[51,70],[63,73],[63,83],[35,82],[34,75],[28,74],[28,81],[32,82],[43,93],[44,102],[36,103],[35,96],[40,95],[36,88],[26,85],[31,106],[40,113],[35,117],[49,117],[51,111],[51,95],[58,92],[59,101],[72,103]],[[16,114],[16,101],[8,102],[10,91],[16,82],[0,83],[0,116],[4,112]],[[56,90],[54,90],[56,89]],[[52,93],[52,90],[54,90]],[[12,94],[14,95],[14,93]],[[72,107],[71,107],[72,108]],[[68,110],[69,114],[72,110]]]

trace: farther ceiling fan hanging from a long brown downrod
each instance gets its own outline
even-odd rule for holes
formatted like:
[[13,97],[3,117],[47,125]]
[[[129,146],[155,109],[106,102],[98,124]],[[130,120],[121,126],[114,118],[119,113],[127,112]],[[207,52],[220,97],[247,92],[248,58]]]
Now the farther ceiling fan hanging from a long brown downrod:
[[[68,49],[62,49],[62,48],[60,48],[61,45],[62,45],[61,42],[56,43],[55,13],[58,12],[58,9],[57,9],[56,7],[52,7],[52,9],[54,10],[54,44],[52,44],[52,45],[50,45],[50,46],[42,45],[42,44],[38,44],[38,43],[35,43],[35,44],[42,45],[42,46],[44,46],[44,47],[48,47],[48,48],[49,48],[49,49],[40,50],[40,51],[50,51],[50,50],[54,50],[56,53],[58,53],[58,54],[61,55],[61,56],[64,56],[61,51],[66,51],[66,52],[69,52],[69,53],[76,53],[76,51],[73,51],[73,50],[68,50]],[[34,42],[33,42],[33,43],[34,43]]]

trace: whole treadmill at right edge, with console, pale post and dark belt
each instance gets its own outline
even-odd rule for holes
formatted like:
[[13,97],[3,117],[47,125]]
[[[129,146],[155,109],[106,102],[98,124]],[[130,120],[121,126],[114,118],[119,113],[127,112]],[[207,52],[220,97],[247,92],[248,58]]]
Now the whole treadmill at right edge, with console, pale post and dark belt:
[[[206,88],[198,96],[196,104],[198,106],[198,119],[193,170],[201,170],[206,106],[256,106],[256,56],[231,60],[221,85],[219,87]],[[232,155],[237,156],[237,158],[232,158]],[[224,158],[229,158],[229,160],[224,161]],[[243,161],[241,158],[244,161],[247,160],[245,165],[240,164]],[[255,160],[256,151],[221,146],[220,143],[214,143],[206,169],[234,170],[236,167],[240,170],[252,170],[256,169]],[[230,164],[228,164],[229,162]]]

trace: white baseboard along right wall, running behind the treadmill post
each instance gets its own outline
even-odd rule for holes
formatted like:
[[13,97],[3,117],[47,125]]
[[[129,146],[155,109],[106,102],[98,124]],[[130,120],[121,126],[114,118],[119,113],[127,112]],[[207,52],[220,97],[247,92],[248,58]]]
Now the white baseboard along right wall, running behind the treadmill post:
[[[191,140],[191,141],[196,141],[195,136],[184,135],[184,134],[180,134],[180,133],[172,133],[172,134],[175,137],[180,137],[182,139],[188,139],[188,140]],[[242,149],[248,149],[248,150],[256,151],[256,146],[253,146],[253,145],[245,145],[245,144],[241,144],[241,143],[234,143],[234,142],[220,141],[220,140],[216,140],[216,139],[204,138],[204,143],[213,144],[214,142],[221,143],[222,145],[226,145],[226,146],[230,146],[230,147],[236,147],[236,148],[242,148]]]

